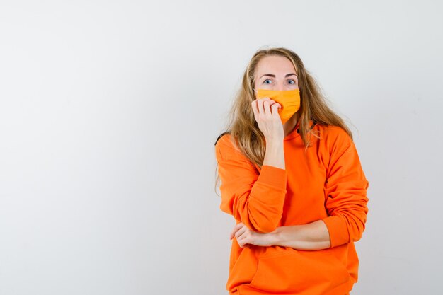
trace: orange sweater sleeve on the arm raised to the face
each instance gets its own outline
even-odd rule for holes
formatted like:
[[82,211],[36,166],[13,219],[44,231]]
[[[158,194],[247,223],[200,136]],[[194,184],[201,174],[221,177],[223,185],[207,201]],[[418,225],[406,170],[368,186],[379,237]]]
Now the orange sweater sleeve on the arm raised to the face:
[[220,209],[252,231],[274,231],[282,218],[287,171],[263,165],[258,173],[251,161],[234,149],[229,135],[219,139],[215,154],[222,181]]

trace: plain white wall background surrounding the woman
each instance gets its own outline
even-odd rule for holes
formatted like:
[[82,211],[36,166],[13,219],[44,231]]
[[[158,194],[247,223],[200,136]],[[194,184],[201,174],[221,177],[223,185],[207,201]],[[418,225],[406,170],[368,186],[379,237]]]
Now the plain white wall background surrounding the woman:
[[301,57],[369,180],[352,294],[441,294],[440,1],[1,1],[0,294],[227,294],[214,141]]

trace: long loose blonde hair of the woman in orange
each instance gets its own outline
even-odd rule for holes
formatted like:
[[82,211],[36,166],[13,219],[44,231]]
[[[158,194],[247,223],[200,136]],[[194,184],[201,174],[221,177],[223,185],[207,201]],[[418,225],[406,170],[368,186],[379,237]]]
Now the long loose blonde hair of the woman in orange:
[[[292,62],[294,69],[296,70],[299,80],[301,104],[300,110],[296,112],[295,115],[297,116],[297,124],[299,125],[298,129],[305,148],[307,149],[309,147],[311,135],[318,137],[318,135],[311,130],[309,120],[312,120],[314,124],[341,127],[352,139],[352,132],[346,126],[343,119],[328,107],[326,98],[321,93],[316,81],[311,74],[309,74],[309,71],[304,68],[304,64],[301,62],[300,57],[295,52],[292,52],[292,50],[283,47],[258,50],[255,52],[243,74],[241,88],[239,89],[234,104],[229,111],[229,120],[225,128],[226,131],[223,132],[219,138],[223,134],[229,133],[231,135],[230,138],[232,144],[236,146],[236,148],[239,149],[254,166],[256,165],[261,168],[263,165],[263,160],[265,158],[265,137],[255,121],[251,103],[255,100],[255,95],[253,93],[255,69],[258,62],[260,62],[260,59],[269,55],[286,57]],[[219,183],[217,170],[218,163],[216,167],[216,187]]]

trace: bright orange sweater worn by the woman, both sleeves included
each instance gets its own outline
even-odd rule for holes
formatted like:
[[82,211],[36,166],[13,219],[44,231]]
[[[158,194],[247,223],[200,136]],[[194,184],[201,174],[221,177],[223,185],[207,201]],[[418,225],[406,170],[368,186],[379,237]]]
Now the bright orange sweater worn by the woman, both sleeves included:
[[357,282],[354,242],[364,231],[369,183],[355,144],[340,127],[316,124],[312,128],[321,139],[312,137],[305,153],[297,128],[284,138],[286,169],[263,165],[260,170],[234,149],[230,134],[219,137],[220,209],[258,233],[321,219],[330,248],[241,248],[234,237],[229,294],[345,295]]

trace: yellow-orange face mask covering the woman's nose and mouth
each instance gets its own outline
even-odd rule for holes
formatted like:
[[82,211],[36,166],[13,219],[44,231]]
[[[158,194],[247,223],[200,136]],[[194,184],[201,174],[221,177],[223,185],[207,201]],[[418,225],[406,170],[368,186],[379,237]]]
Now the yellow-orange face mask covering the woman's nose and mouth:
[[282,108],[279,109],[278,114],[282,119],[282,124],[287,122],[300,109],[299,89],[282,91],[258,89],[257,99],[259,98],[270,98],[280,103]]

